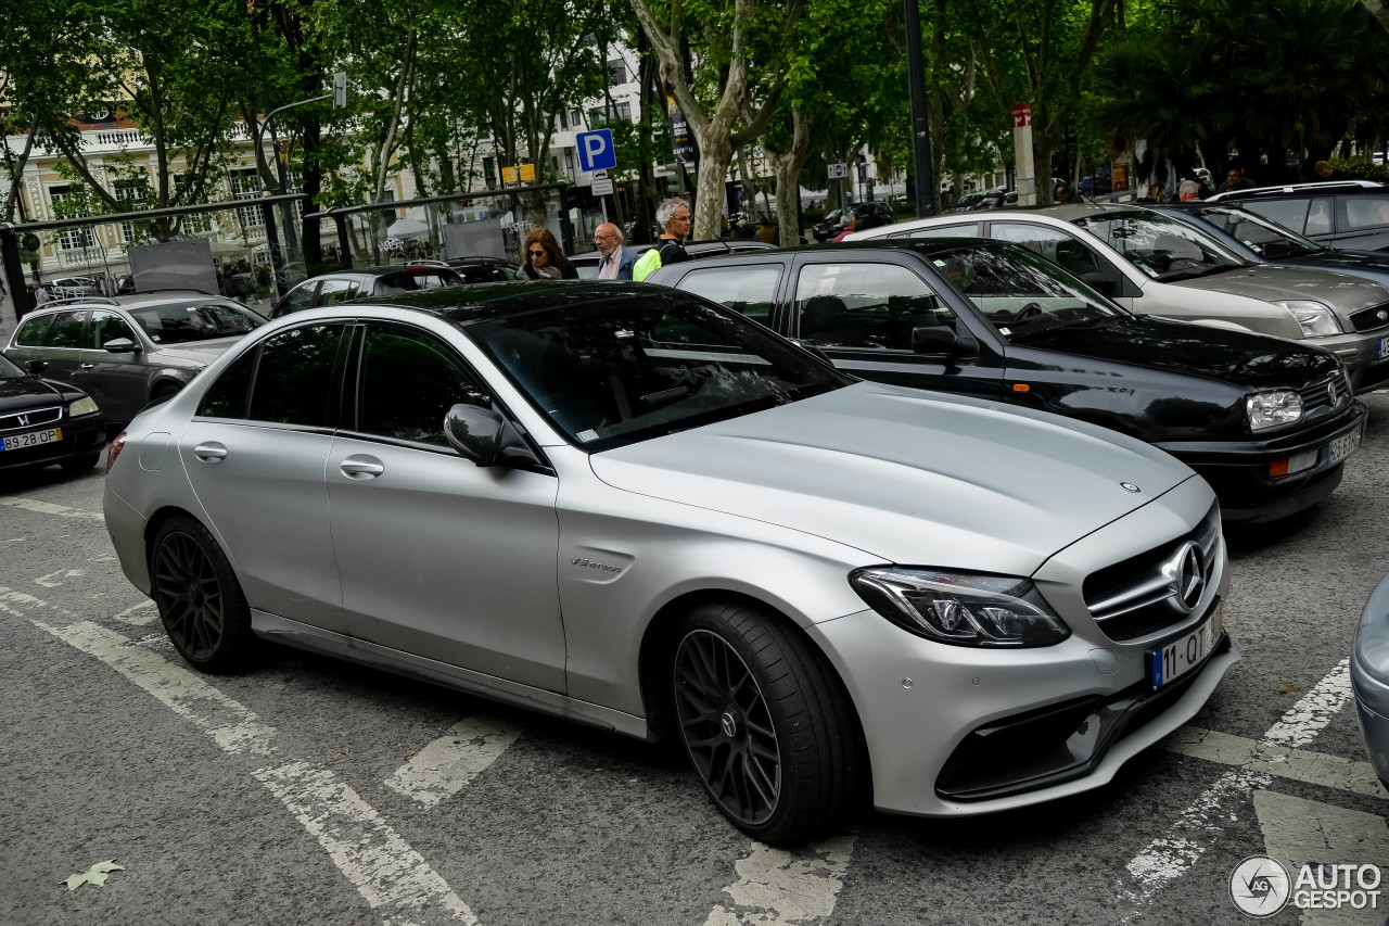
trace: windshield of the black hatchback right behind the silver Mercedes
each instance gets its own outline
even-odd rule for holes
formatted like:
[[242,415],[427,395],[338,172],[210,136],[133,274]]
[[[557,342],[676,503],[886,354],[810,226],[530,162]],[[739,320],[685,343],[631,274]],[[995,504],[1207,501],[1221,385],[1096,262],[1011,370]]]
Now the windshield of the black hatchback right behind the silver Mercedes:
[[931,263],[1008,341],[1056,328],[1092,327],[1128,314],[1050,260],[1018,245],[961,246],[936,252]]

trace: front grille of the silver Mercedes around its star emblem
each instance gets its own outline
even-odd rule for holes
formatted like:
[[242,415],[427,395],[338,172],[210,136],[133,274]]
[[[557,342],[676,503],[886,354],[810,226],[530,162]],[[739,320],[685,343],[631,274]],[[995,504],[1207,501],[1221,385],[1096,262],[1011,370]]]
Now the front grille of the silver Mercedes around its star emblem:
[[1200,549],[1201,577],[1208,585],[1215,571],[1215,546],[1220,539],[1220,503],[1211,505],[1201,523],[1183,537],[1131,556],[1121,563],[1090,573],[1082,585],[1085,606],[1104,635],[1115,642],[1138,640],[1190,620],[1190,615],[1172,608],[1172,576],[1164,566],[1195,542]]

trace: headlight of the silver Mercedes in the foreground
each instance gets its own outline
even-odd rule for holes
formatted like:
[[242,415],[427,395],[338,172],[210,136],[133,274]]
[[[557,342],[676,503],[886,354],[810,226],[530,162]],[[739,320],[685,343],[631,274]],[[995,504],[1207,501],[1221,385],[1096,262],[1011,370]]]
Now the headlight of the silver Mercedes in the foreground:
[[933,569],[858,569],[849,584],[904,630],[957,647],[1049,647],[1071,635],[1031,580]]

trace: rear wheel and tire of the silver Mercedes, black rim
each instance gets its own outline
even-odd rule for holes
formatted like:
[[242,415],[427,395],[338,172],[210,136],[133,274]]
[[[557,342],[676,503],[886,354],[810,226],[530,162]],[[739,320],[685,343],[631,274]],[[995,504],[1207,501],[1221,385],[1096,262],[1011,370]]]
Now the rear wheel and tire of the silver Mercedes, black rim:
[[154,603],[174,648],[197,669],[244,669],[257,651],[250,608],[232,564],[206,527],[176,516],[150,548]]

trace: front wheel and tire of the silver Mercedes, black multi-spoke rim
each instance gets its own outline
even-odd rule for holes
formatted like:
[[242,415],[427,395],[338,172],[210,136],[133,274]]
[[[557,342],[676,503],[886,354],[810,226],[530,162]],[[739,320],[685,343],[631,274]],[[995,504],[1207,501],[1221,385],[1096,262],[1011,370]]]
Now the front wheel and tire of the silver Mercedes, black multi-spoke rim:
[[679,737],[724,816],[764,843],[839,823],[858,791],[864,749],[824,656],[795,628],[740,603],[694,608],[675,640]]

